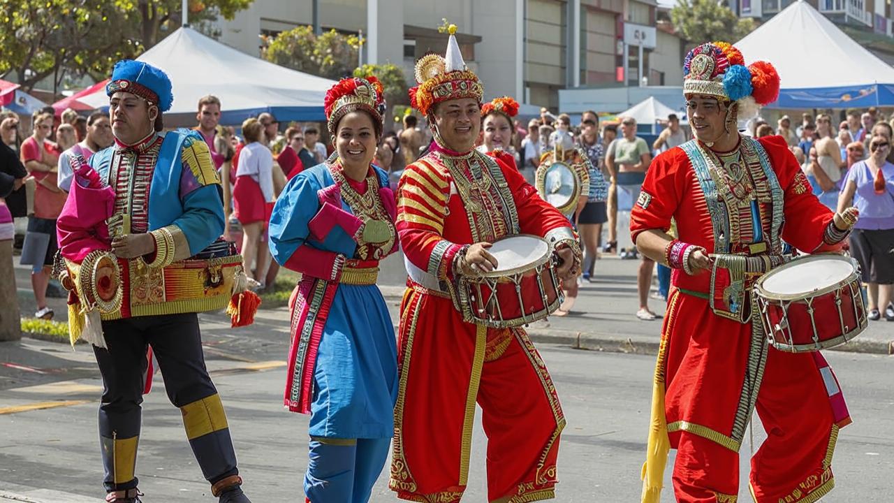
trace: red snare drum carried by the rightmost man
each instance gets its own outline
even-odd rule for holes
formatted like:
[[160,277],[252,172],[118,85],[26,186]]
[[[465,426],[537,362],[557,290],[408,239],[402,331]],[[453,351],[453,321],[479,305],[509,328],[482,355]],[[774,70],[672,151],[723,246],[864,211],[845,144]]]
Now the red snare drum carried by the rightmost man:
[[773,269],[755,283],[767,339],[780,351],[805,353],[842,345],[867,325],[856,260],[811,255]]

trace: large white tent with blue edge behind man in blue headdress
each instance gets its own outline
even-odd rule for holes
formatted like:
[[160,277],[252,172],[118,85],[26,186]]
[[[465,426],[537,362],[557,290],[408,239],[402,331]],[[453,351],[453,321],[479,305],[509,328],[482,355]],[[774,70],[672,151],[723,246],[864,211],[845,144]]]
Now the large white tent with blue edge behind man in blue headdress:
[[[325,120],[323,98],[334,81],[296,72],[221,44],[188,27],[174,31],[142,55],[173,82],[173,107],[164,125],[195,125],[198,99],[221,99],[221,124],[241,124],[249,116],[271,112],[279,121]],[[105,90],[78,98],[107,107]]]

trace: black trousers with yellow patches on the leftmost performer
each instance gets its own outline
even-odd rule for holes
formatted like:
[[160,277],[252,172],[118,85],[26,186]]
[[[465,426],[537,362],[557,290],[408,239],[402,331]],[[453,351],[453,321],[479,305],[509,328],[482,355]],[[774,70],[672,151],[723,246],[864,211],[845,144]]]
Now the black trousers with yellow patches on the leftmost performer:
[[103,321],[107,349],[93,346],[103,377],[99,437],[105,490],[137,487],[148,345],[158,361],[164,388],[181,409],[190,447],[208,482],[239,473],[223,405],[202,353],[196,313]]

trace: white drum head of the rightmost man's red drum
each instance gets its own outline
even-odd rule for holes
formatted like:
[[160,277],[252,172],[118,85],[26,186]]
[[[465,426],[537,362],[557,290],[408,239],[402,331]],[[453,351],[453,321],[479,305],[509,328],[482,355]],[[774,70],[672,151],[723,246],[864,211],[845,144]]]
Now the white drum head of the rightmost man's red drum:
[[795,260],[772,271],[763,280],[768,294],[809,294],[827,286],[837,285],[854,273],[850,260],[822,258]]

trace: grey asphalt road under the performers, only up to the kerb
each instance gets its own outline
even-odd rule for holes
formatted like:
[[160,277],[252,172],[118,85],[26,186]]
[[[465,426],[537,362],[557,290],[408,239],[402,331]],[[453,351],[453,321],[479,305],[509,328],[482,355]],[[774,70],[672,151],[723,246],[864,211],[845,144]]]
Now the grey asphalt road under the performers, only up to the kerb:
[[[204,318],[204,317],[203,317]],[[264,328],[260,320],[258,328]],[[207,325],[203,323],[203,325]],[[281,327],[269,327],[279,330]],[[213,328],[207,328],[213,333]],[[209,334],[210,336],[210,334]],[[307,418],[282,407],[284,354],[264,343],[253,358],[229,345],[254,345],[208,337],[208,367],[223,396],[245,489],[256,503],[303,501]],[[568,419],[561,437],[557,501],[637,502],[651,396],[654,356],[609,354],[541,345]],[[841,431],[833,468],[838,487],[826,503],[894,501],[894,393],[890,357],[828,353],[848,399],[854,424]],[[99,503],[102,469],[97,442],[101,391],[92,355],[84,346],[39,341],[0,344],[0,503]],[[27,370],[26,370],[27,369]],[[42,372],[42,373],[41,373]],[[47,401],[65,406],[40,406]],[[797,404],[791,406],[797,407]],[[180,413],[164,395],[161,379],[143,406],[137,467],[146,503],[214,501],[183,433]],[[805,411],[809,413],[809,411]],[[763,431],[755,426],[755,444]],[[477,421],[464,501],[485,501],[485,436]],[[740,495],[749,500],[742,452]],[[673,462],[671,454],[671,463]],[[670,469],[662,501],[672,501]],[[387,465],[375,485],[375,503],[397,499],[387,489]]]

